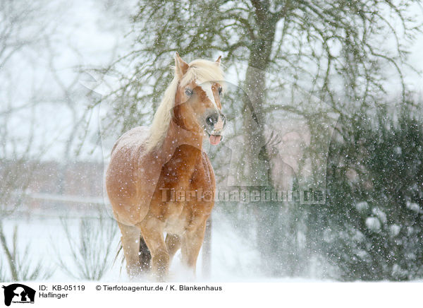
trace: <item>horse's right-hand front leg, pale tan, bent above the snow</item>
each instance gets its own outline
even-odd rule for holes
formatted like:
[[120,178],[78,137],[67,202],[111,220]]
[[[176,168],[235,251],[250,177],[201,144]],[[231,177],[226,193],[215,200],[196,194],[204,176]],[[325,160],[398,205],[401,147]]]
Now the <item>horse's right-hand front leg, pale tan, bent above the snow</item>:
[[190,227],[185,231],[182,237],[182,261],[192,270],[195,275],[195,266],[197,264],[198,254],[204,239],[204,232],[206,231],[207,218],[204,218],[196,227]]

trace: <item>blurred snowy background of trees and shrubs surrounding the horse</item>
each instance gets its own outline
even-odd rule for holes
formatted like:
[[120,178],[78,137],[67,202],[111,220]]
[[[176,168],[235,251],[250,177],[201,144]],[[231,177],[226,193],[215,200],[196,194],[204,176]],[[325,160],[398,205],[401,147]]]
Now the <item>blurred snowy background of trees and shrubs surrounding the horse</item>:
[[104,168],[175,52],[228,79],[198,280],[421,279],[422,20],[421,1],[1,1],[0,280],[128,279]]

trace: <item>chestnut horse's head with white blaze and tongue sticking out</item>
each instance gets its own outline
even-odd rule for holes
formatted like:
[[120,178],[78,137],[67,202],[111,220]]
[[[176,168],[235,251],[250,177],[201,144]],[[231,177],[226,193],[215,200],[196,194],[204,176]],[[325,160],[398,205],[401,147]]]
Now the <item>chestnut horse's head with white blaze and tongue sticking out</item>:
[[174,114],[178,125],[199,134],[207,134],[216,146],[222,138],[226,117],[221,111],[223,73],[221,57],[216,61],[195,60],[187,64],[176,54],[178,78]]

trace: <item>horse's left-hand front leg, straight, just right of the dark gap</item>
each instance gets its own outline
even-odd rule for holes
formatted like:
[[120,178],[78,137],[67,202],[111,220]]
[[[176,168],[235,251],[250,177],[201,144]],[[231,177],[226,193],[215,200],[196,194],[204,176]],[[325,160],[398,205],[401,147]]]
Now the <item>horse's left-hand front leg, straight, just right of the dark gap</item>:
[[166,280],[169,268],[169,254],[164,242],[164,223],[157,219],[148,217],[137,225],[141,229],[145,244],[152,255],[152,271],[159,280]]

